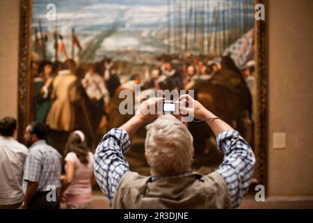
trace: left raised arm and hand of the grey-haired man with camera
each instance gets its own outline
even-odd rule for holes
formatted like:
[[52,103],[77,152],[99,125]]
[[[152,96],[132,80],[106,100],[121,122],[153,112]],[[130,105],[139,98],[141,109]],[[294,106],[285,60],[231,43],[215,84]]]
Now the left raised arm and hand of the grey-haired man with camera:
[[94,155],[95,178],[102,192],[106,194],[112,206],[116,187],[122,176],[129,171],[129,164],[125,154],[131,147],[129,139],[145,123],[157,118],[156,114],[146,114],[143,110],[149,110],[151,106],[157,107],[157,102],[162,98],[152,98],[141,104],[135,116],[120,128],[113,128],[104,135]]

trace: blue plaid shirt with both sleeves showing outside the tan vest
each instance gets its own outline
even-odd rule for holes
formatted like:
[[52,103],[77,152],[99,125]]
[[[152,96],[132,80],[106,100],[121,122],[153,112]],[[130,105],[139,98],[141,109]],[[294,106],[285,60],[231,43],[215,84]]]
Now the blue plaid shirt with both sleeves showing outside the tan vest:
[[[235,130],[220,133],[217,142],[225,156],[216,171],[225,180],[232,206],[237,208],[248,192],[253,176],[255,156],[248,143]],[[112,129],[104,135],[95,151],[97,183],[106,194],[111,206],[120,179],[129,171],[129,164],[124,155],[130,146],[129,135],[125,130]]]

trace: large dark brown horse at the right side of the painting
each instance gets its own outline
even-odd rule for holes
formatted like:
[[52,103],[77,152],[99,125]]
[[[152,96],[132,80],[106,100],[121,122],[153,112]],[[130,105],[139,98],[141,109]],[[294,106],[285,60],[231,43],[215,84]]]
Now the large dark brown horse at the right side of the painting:
[[[195,99],[220,117],[252,143],[252,97],[234,61],[225,56],[222,68],[207,82],[195,86]],[[205,122],[188,123],[193,134],[195,154],[204,153],[207,139],[212,136]]]

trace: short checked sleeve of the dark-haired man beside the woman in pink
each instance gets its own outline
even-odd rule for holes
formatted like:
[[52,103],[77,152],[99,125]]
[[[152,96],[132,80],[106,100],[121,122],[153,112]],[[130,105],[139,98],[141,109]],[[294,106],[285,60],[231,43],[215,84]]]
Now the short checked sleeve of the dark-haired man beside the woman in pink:
[[25,160],[23,179],[31,182],[39,182],[41,175],[40,157],[34,153],[29,153]]

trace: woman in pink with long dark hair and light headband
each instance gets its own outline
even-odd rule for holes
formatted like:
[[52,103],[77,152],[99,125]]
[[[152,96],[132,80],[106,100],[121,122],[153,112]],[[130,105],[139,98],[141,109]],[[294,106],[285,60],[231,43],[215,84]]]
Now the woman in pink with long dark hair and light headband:
[[70,209],[87,209],[92,201],[92,186],[95,185],[93,174],[93,153],[85,142],[81,131],[74,131],[65,146],[65,173],[63,180],[62,201]]

